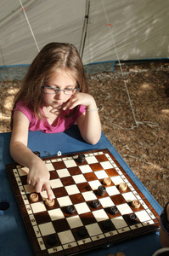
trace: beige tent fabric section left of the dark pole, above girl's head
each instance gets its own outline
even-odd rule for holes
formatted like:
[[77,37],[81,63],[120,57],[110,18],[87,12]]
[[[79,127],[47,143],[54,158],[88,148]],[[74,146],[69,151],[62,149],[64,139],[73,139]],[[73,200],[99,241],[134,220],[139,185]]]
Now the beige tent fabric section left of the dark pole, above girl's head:
[[[10,1],[9,1],[10,2]],[[81,44],[82,27],[85,16],[84,0],[35,0],[25,1],[25,13],[30,21],[37,44],[40,49],[50,42],[68,42]],[[6,2],[8,3],[8,1]],[[14,9],[14,3],[17,3]],[[0,66],[30,64],[38,53],[25,15],[18,3],[11,0],[15,12],[11,19],[0,23]],[[6,8],[0,9],[0,16]],[[7,14],[9,17],[10,14]]]

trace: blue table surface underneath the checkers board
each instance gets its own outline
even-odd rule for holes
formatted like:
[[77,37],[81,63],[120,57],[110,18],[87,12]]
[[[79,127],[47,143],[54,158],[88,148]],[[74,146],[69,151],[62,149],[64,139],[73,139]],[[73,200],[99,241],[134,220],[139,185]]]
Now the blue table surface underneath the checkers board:
[[[2,201],[8,201],[9,203],[7,210],[0,210],[0,255],[32,256],[31,244],[5,170],[6,164],[14,162],[9,154],[10,136],[10,133],[0,134],[0,205]],[[82,140],[76,125],[70,128],[70,130],[58,134],[44,134],[41,131],[30,131],[28,147],[31,148],[32,151],[39,151],[42,157],[56,155],[59,151],[62,154],[67,154],[90,149],[108,148],[155,208],[155,211],[161,214],[161,206],[155,201],[153,196],[149,194],[149,191],[138,180],[138,177],[134,175],[126,162],[121,158],[121,155],[118,154],[103,133],[99,143],[89,145]],[[87,253],[86,255],[108,256],[109,254],[123,252],[126,256],[151,256],[160,247],[159,233],[156,232],[149,236],[123,242],[108,249]]]

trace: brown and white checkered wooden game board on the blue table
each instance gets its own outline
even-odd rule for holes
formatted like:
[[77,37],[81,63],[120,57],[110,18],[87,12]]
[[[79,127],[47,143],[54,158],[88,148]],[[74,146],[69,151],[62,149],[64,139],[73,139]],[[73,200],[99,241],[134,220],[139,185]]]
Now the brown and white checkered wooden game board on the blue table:
[[26,167],[6,166],[35,255],[86,253],[159,229],[158,213],[108,149],[43,161],[50,172],[52,207],[45,204],[46,191],[30,201],[35,191],[26,183]]

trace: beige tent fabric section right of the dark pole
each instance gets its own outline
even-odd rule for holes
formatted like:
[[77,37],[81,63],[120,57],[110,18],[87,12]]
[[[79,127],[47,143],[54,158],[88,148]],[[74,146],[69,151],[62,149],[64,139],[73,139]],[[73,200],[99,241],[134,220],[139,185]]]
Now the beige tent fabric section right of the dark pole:
[[168,58],[168,23],[168,0],[91,1],[84,61]]

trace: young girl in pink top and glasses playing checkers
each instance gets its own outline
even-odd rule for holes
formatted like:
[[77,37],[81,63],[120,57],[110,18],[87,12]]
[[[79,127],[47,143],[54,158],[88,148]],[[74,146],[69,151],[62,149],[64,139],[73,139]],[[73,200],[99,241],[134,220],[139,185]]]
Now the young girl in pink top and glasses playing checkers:
[[52,200],[49,172],[42,160],[27,148],[28,131],[61,132],[74,124],[87,143],[99,142],[98,108],[93,96],[87,94],[87,79],[75,46],[47,44],[31,63],[15,96],[10,154],[29,168],[27,183],[37,193],[46,189],[49,200]]

